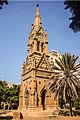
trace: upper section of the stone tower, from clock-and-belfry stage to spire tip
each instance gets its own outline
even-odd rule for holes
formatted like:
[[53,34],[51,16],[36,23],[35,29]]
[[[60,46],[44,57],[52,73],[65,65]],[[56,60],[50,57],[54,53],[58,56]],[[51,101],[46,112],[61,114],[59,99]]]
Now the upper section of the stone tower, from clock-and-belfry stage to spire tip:
[[28,37],[28,56],[31,56],[34,52],[37,54],[48,54],[47,33],[44,32],[42,27],[38,5],[36,7],[36,15],[34,23],[32,24],[32,30]]

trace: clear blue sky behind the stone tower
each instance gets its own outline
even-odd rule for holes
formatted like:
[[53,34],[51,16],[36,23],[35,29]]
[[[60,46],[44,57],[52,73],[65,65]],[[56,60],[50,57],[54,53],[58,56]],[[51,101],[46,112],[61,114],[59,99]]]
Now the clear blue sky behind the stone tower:
[[48,31],[49,51],[80,56],[80,33],[68,28],[71,13],[62,1],[9,1],[0,10],[0,78],[21,82],[21,67],[27,56],[28,34],[39,4],[41,22]]

